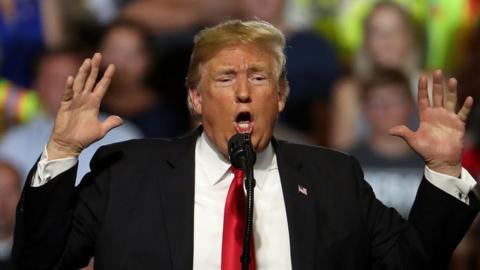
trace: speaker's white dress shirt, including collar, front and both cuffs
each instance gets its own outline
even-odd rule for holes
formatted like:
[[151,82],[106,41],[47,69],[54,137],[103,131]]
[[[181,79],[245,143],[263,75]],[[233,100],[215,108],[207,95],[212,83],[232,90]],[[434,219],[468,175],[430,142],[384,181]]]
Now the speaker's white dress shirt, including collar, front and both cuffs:
[[[77,160],[48,161],[44,150],[32,186],[41,186],[73,167]],[[220,269],[223,214],[233,174],[230,163],[213,147],[205,133],[195,148],[195,205],[193,269]],[[291,269],[290,239],[277,159],[270,144],[257,153],[254,201],[254,242],[258,270]],[[468,204],[467,194],[476,181],[462,168],[460,178],[425,167],[425,178],[434,186]]]

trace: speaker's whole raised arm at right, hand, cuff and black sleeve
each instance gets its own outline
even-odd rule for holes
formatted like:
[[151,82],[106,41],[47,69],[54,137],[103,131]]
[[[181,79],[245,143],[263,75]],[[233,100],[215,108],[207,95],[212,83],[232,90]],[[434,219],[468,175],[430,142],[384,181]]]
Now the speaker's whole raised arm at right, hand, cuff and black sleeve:
[[[399,265],[405,269],[447,269],[453,250],[478,213],[478,199],[460,188],[475,183],[462,173],[461,167],[465,120],[473,99],[468,97],[456,112],[457,81],[451,78],[445,83],[439,70],[434,72],[431,102],[427,88],[427,77],[420,77],[419,128],[412,131],[396,126],[390,133],[403,138],[424,159],[430,169],[426,172],[440,174],[432,173],[430,179],[425,175],[408,223],[379,207],[378,201],[372,199],[371,188],[361,182],[376,264],[373,269],[396,269]],[[439,177],[444,180],[440,181],[442,185],[436,185]],[[453,194],[450,187],[454,187]]]

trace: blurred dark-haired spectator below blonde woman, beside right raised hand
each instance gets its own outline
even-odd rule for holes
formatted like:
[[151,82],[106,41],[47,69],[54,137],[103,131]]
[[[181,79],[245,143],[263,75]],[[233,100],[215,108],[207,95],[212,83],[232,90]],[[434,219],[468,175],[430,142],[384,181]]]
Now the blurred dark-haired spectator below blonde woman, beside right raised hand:
[[408,79],[397,70],[379,70],[366,81],[362,105],[370,133],[349,152],[364,168],[377,197],[407,217],[422,176],[423,161],[389,130],[409,123],[415,112]]

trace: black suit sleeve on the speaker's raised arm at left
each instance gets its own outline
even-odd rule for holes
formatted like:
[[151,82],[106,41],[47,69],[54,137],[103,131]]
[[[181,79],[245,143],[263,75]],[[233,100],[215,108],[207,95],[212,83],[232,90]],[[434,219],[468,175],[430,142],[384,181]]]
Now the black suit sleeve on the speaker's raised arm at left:
[[97,151],[92,172],[78,187],[77,165],[40,187],[30,185],[37,166],[32,168],[17,206],[12,253],[17,269],[78,269],[88,264],[108,201],[104,152]]

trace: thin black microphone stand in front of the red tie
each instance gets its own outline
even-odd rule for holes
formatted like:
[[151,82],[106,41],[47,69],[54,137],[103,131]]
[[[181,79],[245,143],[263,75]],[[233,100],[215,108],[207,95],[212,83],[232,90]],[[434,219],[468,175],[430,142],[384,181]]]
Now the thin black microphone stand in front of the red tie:
[[252,240],[252,233],[253,233],[253,190],[255,188],[255,179],[253,178],[253,166],[248,166],[245,170],[245,188],[247,190],[247,209],[246,209],[246,224],[245,230],[243,233],[243,252],[242,256],[240,257],[240,261],[242,262],[242,270],[248,270],[248,266],[250,264],[250,248],[251,248],[251,240]]

